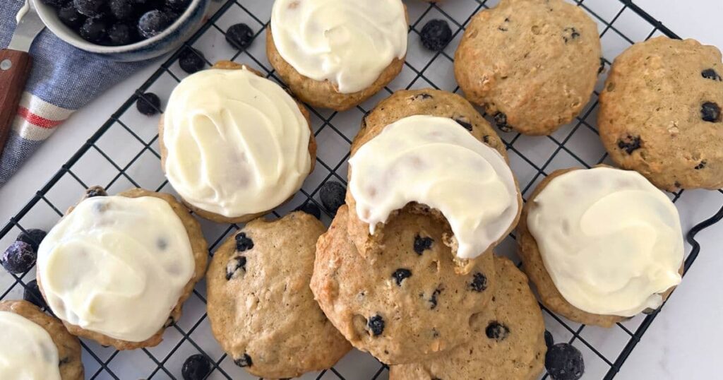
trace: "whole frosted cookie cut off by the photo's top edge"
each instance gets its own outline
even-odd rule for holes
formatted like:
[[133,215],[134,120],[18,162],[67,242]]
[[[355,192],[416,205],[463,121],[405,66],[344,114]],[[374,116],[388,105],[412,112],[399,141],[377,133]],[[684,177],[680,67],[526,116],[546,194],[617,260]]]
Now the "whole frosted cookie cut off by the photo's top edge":
[[299,99],[343,111],[401,72],[407,32],[401,0],[276,0],[266,53]]

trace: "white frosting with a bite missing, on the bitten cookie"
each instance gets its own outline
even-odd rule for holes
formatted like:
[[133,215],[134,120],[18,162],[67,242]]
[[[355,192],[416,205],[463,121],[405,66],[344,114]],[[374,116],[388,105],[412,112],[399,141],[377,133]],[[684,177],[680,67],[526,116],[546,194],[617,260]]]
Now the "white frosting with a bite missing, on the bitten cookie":
[[502,155],[445,117],[389,124],[349,160],[356,214],[374,234],[392,211],[418,202],[441,211],[459,258],[475,258],[518,215],[518,188]]

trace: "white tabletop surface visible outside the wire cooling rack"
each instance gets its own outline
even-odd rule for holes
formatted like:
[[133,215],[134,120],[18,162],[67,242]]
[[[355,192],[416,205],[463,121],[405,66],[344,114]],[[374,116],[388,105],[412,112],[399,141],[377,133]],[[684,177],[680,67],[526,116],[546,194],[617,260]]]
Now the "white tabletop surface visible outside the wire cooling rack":
[[[683,38],[696,38],[723,48],[720,21],[723,1],[638,0],[636,3]],[[153,71],[155,67],[138,72],[64,124],[22,170],[0,188],[0,224],[15,214]],[[700,192],[696,197],[688,197],[687,201],[708,197],[711,197],[711,204],[722,199],[709,192]],[[688,219],[700,221],[714,211],[711,206]],[[698,261],[625,363],[619,379],[722,378],[719,364],[723,353],[719,348],[723,342],[720,319],[723,316],[722,232],[723,228],[719,226],[699,235],[703,251]]]

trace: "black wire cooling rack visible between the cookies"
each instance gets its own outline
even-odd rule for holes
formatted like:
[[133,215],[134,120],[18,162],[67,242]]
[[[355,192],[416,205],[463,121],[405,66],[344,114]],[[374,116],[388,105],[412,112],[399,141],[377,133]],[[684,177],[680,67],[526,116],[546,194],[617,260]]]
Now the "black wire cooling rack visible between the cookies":
[[[453,56],[463,29],[472,15],[484,8],[494,7],[499,0],[446,0],[438,4],[405,1],[411,20],[410,47],[401,75],[380,94],[356,109],[341,113],[311,110],[312,124],[319,145],[318,164],[302,190],[286,206],[275,210],[275,216],[286,214],[304,202],[316,203],[323,211],[318,195],[321,185],[329,180],[346,184],[346,161],[351,139],[354,138],[366,111],[372,109],[382,98],[403,88],[431,87],[459,92],[453,76]],[[675,33],[643,12],[632,1],[571,2],[591,14],[597,22],[606,68],[617,54],[636,41],[655,35],[677,38]],[[61,166],[47,185],[0,230],[0,247],[9,245],[14,237],[25,229],[52,227],[63,211],[74,204],[90,185],[103,185],[111,193],[129,187],[174,193],[161,172],[156,128],[158,119],[139,114],[134,109],[135,102],[143,93],[153,92],[158,94],[165,104],[174,86],[187,75],[179,68],[177,59],[181,51],[189,47],[202,52],[208,65],[217,60],[231,59],[249,64],[280,82],[265,57],[265,38],[262,35],[270,19],[271,4],[273,1],[269,0],[228,0],[217,4],[218,11],[198,33],[176,54],[163,62],[87,143]],[[450,46],[439,53],[427,51],[419,43],[419,30],[431,19],[447,20],[455,33]],[[247,23],[256,33],[254,43],[247,51],[231,48],[224,41],[224,31],[238,22]],[[599,78],[597,90],[602,88],[604,77],[605,74]],[[607,154],[599,143],[596,130],[597,90],[590,104],[574,122],[547,138],[500,132],[508,147],[510,164],[522,185],[524,195],[528,195],[537,183],[555,169],[608,163]],[[720,191],[706,194],[706,197],[714,194],[716,198],[721,198],[722,195]],[[700,204],[695,200],[680,202],[679,200],[685,198],[683,191],[671,193],[669,196],[677,203],[682,215],[696,211],[696,204]],[[701,210],[697,211],[696,215]],[[699,246],[694,240],[696,233],[716,223],[722,216],[723,209],[690,230],[690,245],[686,245],[686,249],[689,249],[685,261],[686,271],[698,256]],[[327,224],[330,222],[330,216],[326,212],[322,219]],[[213,255],[219,243],[233,234],[239,226],[202,221],[202,228],[211,244],[210,254]],[[498,253],[516,260],[514,239],[514,235],[510,235],[500,245]],[[20,276],[0,272],[1,299],[21,299],[27,282],[35,278],[35,269]],[[543,310],[547,329],[552,332],[555,341],[570,342],[583,352],[586,366],[584,379],[612,379],[658,312],[632,318],[612,329],[601,329],[576,324]],[[197,353],[208,356],[213,363],[213,372],[209,379],[253,379],[234,365],[233,360],[223,353],[211,335],[205,314],[205,282],[198,284],[184,305],[184,316],[174,326],[166,329],[163,343],[158,347],[119,352],[85,339],[82,347],[87,379],[181,379],[184,360]],[[548,377],[546,373],[542,375],[542,379]],[[320,373],[307,373],[302,379],[387,378],[387,366],[371,355],[353,351],[334,368]]]

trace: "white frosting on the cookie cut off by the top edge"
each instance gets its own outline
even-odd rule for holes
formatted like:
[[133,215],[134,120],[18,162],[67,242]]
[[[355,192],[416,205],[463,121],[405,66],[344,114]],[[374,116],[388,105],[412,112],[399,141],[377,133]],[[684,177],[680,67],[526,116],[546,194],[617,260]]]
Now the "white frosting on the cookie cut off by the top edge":
[[329,80],[340,93],[368,88],[406,55],[401,0],[276,0],[271,12],[283,59],[305,77]]

